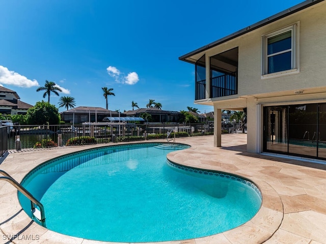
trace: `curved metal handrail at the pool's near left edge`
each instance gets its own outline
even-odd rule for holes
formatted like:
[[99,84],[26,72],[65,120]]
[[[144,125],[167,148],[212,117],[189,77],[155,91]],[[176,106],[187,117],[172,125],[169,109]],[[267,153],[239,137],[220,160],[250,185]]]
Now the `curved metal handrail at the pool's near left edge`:
[[[45,213],[44,213],[44,207],[42,203],[40,203],[33,195],[26,190],[24,187],[22,187],[13,177],[11,177],[6,171],[0,170],[0,173],[3,174],[4,176],[0,176],[0,180],[6,180],[8,181],[11,185],[13,185],[19,192],[21,192],[25,197],[30,199],[31,201],[31,211],[33,216],[41,222],[43,227],[46,227],[45,224]],[[40,210],[38,210],[35,205],[37,205]]]

